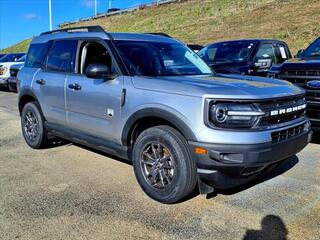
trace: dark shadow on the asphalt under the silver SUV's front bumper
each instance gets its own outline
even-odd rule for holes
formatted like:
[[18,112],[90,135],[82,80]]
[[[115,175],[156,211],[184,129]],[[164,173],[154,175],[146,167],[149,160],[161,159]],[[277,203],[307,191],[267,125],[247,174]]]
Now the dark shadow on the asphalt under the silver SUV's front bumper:
[[278,165],[277,167],[272,169],[272,171],[270,171],[266,174],[263,174],[262,176],[258,177],[257,179],[255,179],[253,181],[250,181],[249,183],[246,183],[246,184],[241,185],[239,187],[235,187],[235,188],[228,189],[228,190],[215,189],[215,191],[213,193],[210,193],[207,195],[207,199],[216,197],[218,194],[233,195],[233,194],[245,191],[251,187],[254,187],[260,183],[268,181],[272,178],[275,178],[275,177],[287,172],[288,170],[293,168],[298,162],[299,162],[299,158],[296,155],[291,156],[288,159],[286,159],[285,161],[283,161],[282,163],[280,163],[280,165]]

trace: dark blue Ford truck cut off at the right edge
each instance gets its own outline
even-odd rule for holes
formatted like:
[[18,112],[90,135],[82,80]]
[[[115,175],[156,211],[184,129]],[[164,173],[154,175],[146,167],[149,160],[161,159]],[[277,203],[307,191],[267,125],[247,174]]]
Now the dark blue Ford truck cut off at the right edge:
[[307,92],[307,115],[314,130],[320,130],[320,38],[305,50],[299,50],[296,58],[270,69],[269,77],[294,83]]

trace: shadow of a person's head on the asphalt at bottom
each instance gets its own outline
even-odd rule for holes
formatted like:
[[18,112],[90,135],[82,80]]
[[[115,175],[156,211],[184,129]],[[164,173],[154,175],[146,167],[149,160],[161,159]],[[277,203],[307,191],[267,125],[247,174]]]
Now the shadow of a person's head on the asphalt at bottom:
[[286,240],[288,229],[284,221],[275,215],[267,215],[261,220],[261,229],[248,229],[243,240]]

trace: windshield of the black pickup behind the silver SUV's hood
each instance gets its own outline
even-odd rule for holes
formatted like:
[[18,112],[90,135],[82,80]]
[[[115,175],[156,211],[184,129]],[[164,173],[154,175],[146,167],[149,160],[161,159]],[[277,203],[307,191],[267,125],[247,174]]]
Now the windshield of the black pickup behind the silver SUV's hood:
[[247,61],[255,45],[254,41],[218,43],[205,47],[198,55],[206,62]]

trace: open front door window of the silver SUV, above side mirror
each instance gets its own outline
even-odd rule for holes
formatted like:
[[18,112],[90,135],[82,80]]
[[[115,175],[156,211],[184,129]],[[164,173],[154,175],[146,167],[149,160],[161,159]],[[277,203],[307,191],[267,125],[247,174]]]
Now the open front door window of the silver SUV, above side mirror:
[[84,42],[81,44],[78,62],[78,73],[80,74],[85,74],[90,64],[97,63],[107,65],[111,73],[116,73],[111,55],[103,45],[97,42]]

